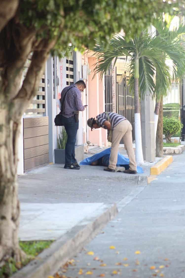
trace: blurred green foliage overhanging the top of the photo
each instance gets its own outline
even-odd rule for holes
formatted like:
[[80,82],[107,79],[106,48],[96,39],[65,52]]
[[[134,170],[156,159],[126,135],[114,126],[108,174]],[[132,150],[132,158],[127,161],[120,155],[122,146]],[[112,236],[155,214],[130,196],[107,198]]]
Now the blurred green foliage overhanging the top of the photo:
[[37,31],[37,38],[52,39],[57,43],[53,54],[61,55],[68,44],[82,49],[91,48],[95,39],[109,41],[121,29],[128,37],[138,35],[153,22],[153,14],[173,14],[174,6],[162,0],[24,0],[19,2],[16,16],[23,26]]

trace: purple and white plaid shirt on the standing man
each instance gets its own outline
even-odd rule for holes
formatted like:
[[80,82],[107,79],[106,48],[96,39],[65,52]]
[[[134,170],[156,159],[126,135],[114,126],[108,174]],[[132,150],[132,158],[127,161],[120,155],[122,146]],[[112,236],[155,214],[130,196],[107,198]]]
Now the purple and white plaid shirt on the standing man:
[[[69,89],[70,88],[70,89]],[[69,90],[68,90],[69,89]],[[67,91],[68,90],[68,91]],[[67,93],[66,93],[67,91]],[[61,92],[61,100],[66,93],[66,98],[61,107],[62,115],[66,118],[72,117],[73,111],[84,111],[85,107],[82,105],[81,91],[78,90],[75,84],[65,87]]]

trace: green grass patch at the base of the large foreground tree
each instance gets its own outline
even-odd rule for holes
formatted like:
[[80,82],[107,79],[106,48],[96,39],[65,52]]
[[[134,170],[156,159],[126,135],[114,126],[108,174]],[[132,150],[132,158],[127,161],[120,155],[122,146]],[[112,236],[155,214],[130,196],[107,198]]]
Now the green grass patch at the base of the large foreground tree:
[[48,248],[54,240],[39,240],[39,241],[19,241],[19,246],[28,255],[24,262],[16,263],[10,258],[0,268],[0,278],[8,278],[14,272],[21,269],[24,265],[33,260],[44,249]]

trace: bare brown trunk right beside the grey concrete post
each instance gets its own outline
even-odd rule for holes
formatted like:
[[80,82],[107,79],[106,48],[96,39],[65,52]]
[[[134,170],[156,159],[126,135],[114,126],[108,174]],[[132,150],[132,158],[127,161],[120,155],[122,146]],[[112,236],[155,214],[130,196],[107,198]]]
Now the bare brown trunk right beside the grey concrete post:
[[163,97],[161,96],[156,133],[156,157],[163,157]]

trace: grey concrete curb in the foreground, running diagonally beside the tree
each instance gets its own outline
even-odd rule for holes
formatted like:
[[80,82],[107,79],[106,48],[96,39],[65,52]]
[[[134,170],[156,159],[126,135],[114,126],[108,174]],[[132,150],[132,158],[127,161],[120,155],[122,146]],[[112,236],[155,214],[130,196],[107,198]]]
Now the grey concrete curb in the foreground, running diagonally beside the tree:
[[48,275],[53,275],[61,265],[78,254],[84,245],[90,242],[107,222],[116,216],[118,209],[116,204],[111,207],[102,205],[95,213],[96,216],[83,219],[11,278],[46,278]]

